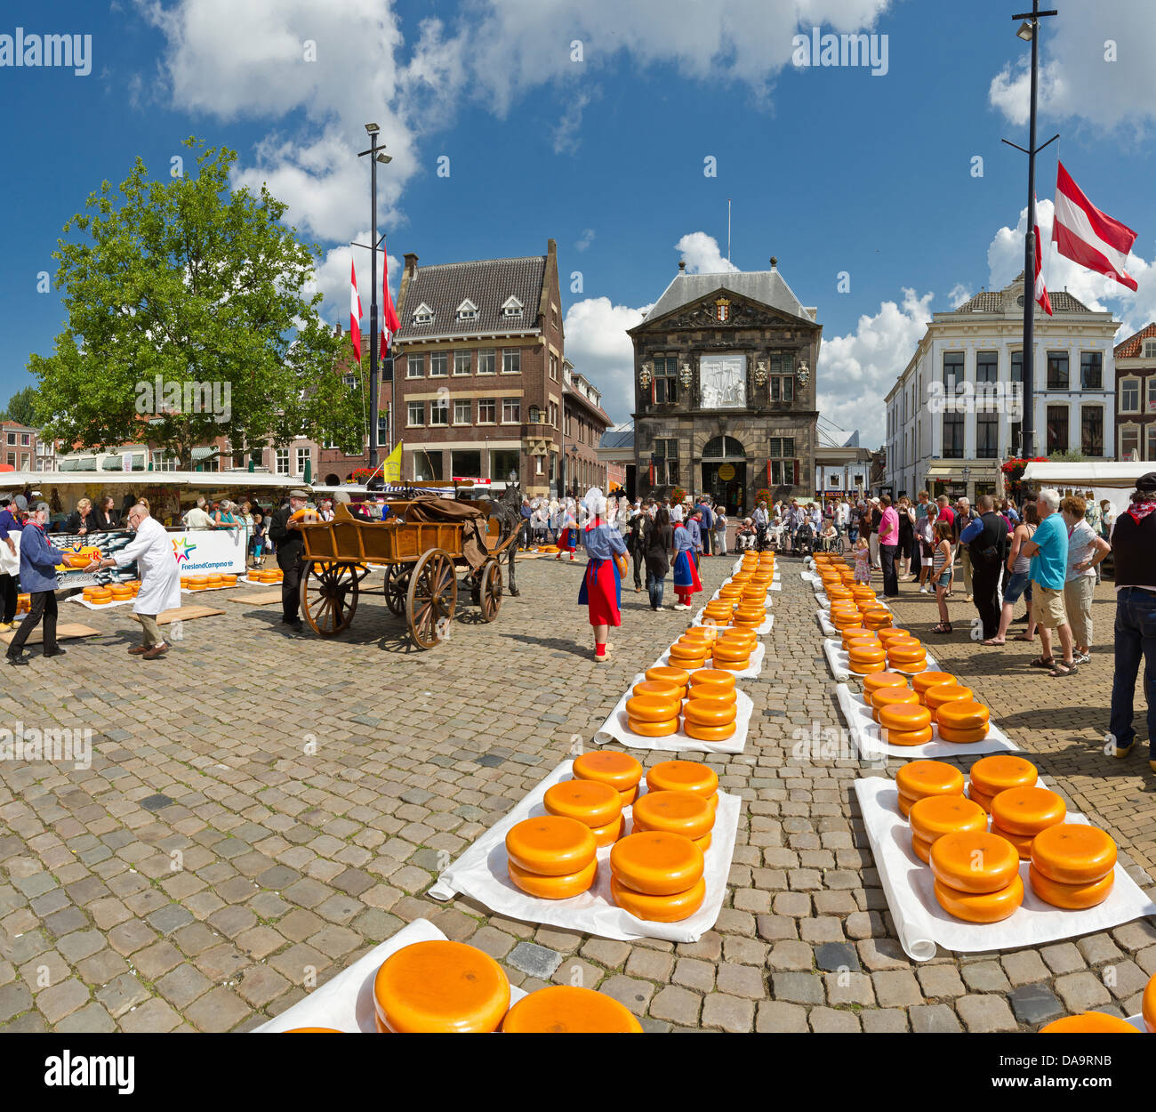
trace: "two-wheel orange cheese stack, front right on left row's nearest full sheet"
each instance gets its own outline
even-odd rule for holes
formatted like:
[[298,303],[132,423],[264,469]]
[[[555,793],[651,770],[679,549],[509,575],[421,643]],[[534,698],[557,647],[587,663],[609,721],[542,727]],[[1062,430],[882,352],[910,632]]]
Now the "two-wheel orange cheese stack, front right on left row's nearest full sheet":
[[610,895],[636,919],[677,922],[706,898],[704,867],[703,851],[684,835],[628,835],[610,851]]

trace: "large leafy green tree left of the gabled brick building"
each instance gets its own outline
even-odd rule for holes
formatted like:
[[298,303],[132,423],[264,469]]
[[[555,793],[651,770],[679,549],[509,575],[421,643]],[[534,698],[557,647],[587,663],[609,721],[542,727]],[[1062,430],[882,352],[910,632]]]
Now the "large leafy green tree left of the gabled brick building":
[[[298,436],[362,451],[361,395],[334,371],[340,340],[309,294],[320,251],[281,223],[286,205],[229,186],[236,151],[194,138],[195,177],[148,177],[138,158],[58,240],[68,311],[53,355],[32,355],[45,436],[86,447],[148,440],[192,467]],[[208,457],[212,458],[212,457]]]

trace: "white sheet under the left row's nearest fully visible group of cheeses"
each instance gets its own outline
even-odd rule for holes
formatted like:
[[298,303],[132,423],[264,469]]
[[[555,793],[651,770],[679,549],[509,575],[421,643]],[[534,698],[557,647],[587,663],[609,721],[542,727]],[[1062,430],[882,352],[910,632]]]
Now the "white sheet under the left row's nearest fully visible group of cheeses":
[[[572,761],[563,761],[509,815],[477,838],[429,890],[432,899],[450,899],[454,892],[472,896],[490,911],[523,922],[541,922],[580,931],[603,939],[630,942],[633,939],[667,939],[670,942],[697,942],[714,926],[726,897],[731,859],[739,829],[738,795],[719,792],[711,847],[706,851],[706,897],[703,906],[681,922],[649,922],[623,911],[610,896],[610,846],[598,851],[598,877],[588,892],[571,899],[539,899],[516,888],[506,869],[505,836],[511,826],[544,815],[546,789],[571,779]],[[643,783],[645,787],[645,781]],[[632,808],[623,811],[628,824]]]

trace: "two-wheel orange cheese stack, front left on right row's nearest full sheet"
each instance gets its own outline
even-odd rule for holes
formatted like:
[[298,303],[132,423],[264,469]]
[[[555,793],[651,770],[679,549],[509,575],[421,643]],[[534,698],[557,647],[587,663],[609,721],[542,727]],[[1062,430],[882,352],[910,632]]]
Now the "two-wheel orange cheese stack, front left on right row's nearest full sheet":
[[929,863],[935,874],[935,898],[956,919],[999,922],[1023,903],[1020,854],[999,835],[943,835],[932,844]]

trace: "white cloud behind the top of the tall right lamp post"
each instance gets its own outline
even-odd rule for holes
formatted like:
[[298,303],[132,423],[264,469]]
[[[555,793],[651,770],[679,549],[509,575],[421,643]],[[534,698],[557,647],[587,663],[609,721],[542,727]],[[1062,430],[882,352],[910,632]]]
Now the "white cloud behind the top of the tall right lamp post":
[[[1042,20],[1039,108],[1098,127],[1144,127],[1156,120],[1156,20],[1151,0],[1067,3]],[[1013,30],[1008,25],[1008,34]],[[1010,54],[1015,50],[1008,43]],[[1028,121],[1028,53],[992,80],[988,99],[1013,124]]]

